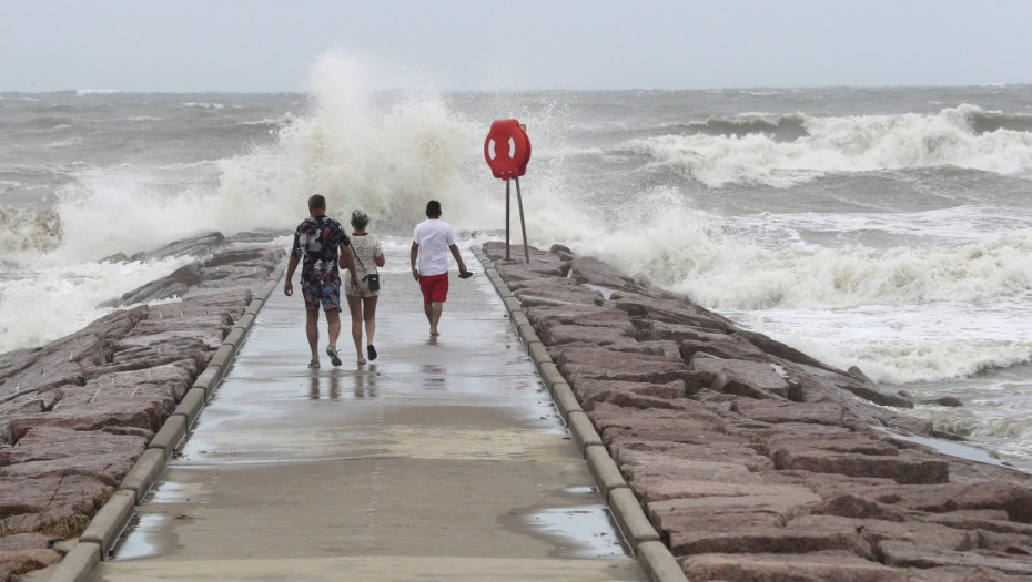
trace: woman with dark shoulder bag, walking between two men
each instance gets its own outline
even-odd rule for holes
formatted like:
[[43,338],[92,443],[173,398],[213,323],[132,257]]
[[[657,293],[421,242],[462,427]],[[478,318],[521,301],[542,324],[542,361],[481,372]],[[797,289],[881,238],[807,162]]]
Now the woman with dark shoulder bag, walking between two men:
[[365,324],[366,351],[370,361],[376,359],[373,335],[376,333],[376,299],[380,295],[380,273],[376,267],[384,266],[384,252],[380,238],[365,231],[370,216],[361,208],[351,213],[351,251],[355,255],[355,270],[358,275],[358,288],[347,287],[347,307],[351,309],[351,335],[355,339],[358,365],[365,364],[362,354],[362,326]]

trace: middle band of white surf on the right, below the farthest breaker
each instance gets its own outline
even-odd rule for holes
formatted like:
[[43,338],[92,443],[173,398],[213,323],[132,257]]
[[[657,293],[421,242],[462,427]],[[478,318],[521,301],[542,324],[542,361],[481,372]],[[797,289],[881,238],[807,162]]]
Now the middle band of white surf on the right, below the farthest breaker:
[[701,211],[649,219],[646,229],[629,218],[608,236],[597,231],[569,241],[718,309],[975,302],[1032,287],[1032,229],[942,246],[809,248],[738,238]]

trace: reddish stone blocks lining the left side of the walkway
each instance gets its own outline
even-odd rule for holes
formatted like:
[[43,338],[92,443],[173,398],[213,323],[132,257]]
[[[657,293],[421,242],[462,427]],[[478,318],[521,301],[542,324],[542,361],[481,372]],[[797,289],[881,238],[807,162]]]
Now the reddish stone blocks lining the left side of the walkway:
[[194,261],[80,331],[0,355],[0,582],[60,560],[122,483],[283,263],[271,238],[213,233],[108,257]]

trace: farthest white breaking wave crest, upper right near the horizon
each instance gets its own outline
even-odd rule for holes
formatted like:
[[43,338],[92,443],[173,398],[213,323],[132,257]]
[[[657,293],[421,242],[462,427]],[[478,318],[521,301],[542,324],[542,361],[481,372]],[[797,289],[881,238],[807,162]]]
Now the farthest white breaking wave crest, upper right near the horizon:
[[[781,143],[763,133],[660,135],[625,147],[675,167],[710,187],[789,187],[828,173],[953,165],[999,174],[1032,170],[1032,134],[977,133],[974,105],[937,114],[805,116],[808,135]],[[746,114],[750,119],[757,114]]]

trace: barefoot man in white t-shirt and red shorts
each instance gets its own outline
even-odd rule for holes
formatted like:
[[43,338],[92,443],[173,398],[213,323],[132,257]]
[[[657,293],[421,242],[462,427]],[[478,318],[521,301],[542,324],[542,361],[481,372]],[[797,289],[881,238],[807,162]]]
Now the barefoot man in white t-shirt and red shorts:
[[[423,292],[423,312],[431,325],[431,336],[437,333],[437,323],[448,296],[448,252],[458,263],[459,276],[466,273],[466,264],[455,246],[455,231],[441,219],[441,203],[426,203],[426,219],[416,225],[412,234],[412,276],[419,282]],[[416,267],[418,258],[418,268]]]

